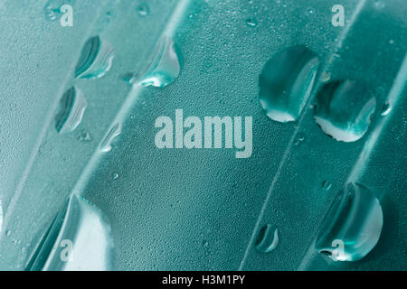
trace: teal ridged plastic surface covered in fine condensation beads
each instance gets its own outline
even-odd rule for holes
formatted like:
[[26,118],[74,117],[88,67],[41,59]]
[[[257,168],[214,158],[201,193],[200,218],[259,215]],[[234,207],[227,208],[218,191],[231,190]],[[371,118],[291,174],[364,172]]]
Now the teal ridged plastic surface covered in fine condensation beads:
[[[30,268],[72,194],[109,219],[118,270],[407,267],[405,1],[342,0],[343,27],[330,0],[51,2],[72,6],[72,27],[50,17],[50,1],[0,1],[0,269]],[[301,45],[317,57],[316,79],[296,120],[272,120],[260,75]],[[370,99],[359,105],[360,91],[374,98],[357,139],[337,114],[321,112],[341,126],[336,139],[317,126],[318,91],[335,79],[366,88],[336,93],[340,116],[357,118]],[[251,157],[157,149],[156,118],[177,108],[251,116]],[[361,260],[334,262],[315,242],[349,182],[373,191],[383,229]]]

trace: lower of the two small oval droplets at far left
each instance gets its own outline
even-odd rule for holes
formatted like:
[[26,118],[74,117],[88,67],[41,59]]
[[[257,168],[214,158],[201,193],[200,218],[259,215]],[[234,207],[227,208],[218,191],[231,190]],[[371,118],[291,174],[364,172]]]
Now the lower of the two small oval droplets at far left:
[[55,129],[60,134],[69,133],[80,125],[88,103],[75,87],[68,89],[61,98],[61,109],[55,117]]

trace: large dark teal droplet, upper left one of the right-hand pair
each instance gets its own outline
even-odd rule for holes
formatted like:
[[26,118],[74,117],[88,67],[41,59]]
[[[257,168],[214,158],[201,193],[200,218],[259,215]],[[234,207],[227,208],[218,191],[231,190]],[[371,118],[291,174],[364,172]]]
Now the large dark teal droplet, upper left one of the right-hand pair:
[[305,46],[276,53],[260,74],[260,104],[267,116],[279,122],[298,119],[308,101],[319,61]]

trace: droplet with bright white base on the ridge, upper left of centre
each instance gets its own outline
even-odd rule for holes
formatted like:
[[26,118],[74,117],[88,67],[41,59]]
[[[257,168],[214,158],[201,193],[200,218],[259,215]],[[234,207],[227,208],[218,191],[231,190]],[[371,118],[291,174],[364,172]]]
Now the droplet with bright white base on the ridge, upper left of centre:
[[165,87],[175,81],[181,70],[175,44],[167,36],[157,43],[152,58],[139,83],[143,86]]

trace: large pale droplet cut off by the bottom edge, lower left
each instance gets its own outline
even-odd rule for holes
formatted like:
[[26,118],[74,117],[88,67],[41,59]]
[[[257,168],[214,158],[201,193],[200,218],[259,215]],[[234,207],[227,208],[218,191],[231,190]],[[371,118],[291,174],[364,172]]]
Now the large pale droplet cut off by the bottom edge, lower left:
[[112,256],[109,220],[89,200],[72,195],[35,247],[26,270],[111,270]]

